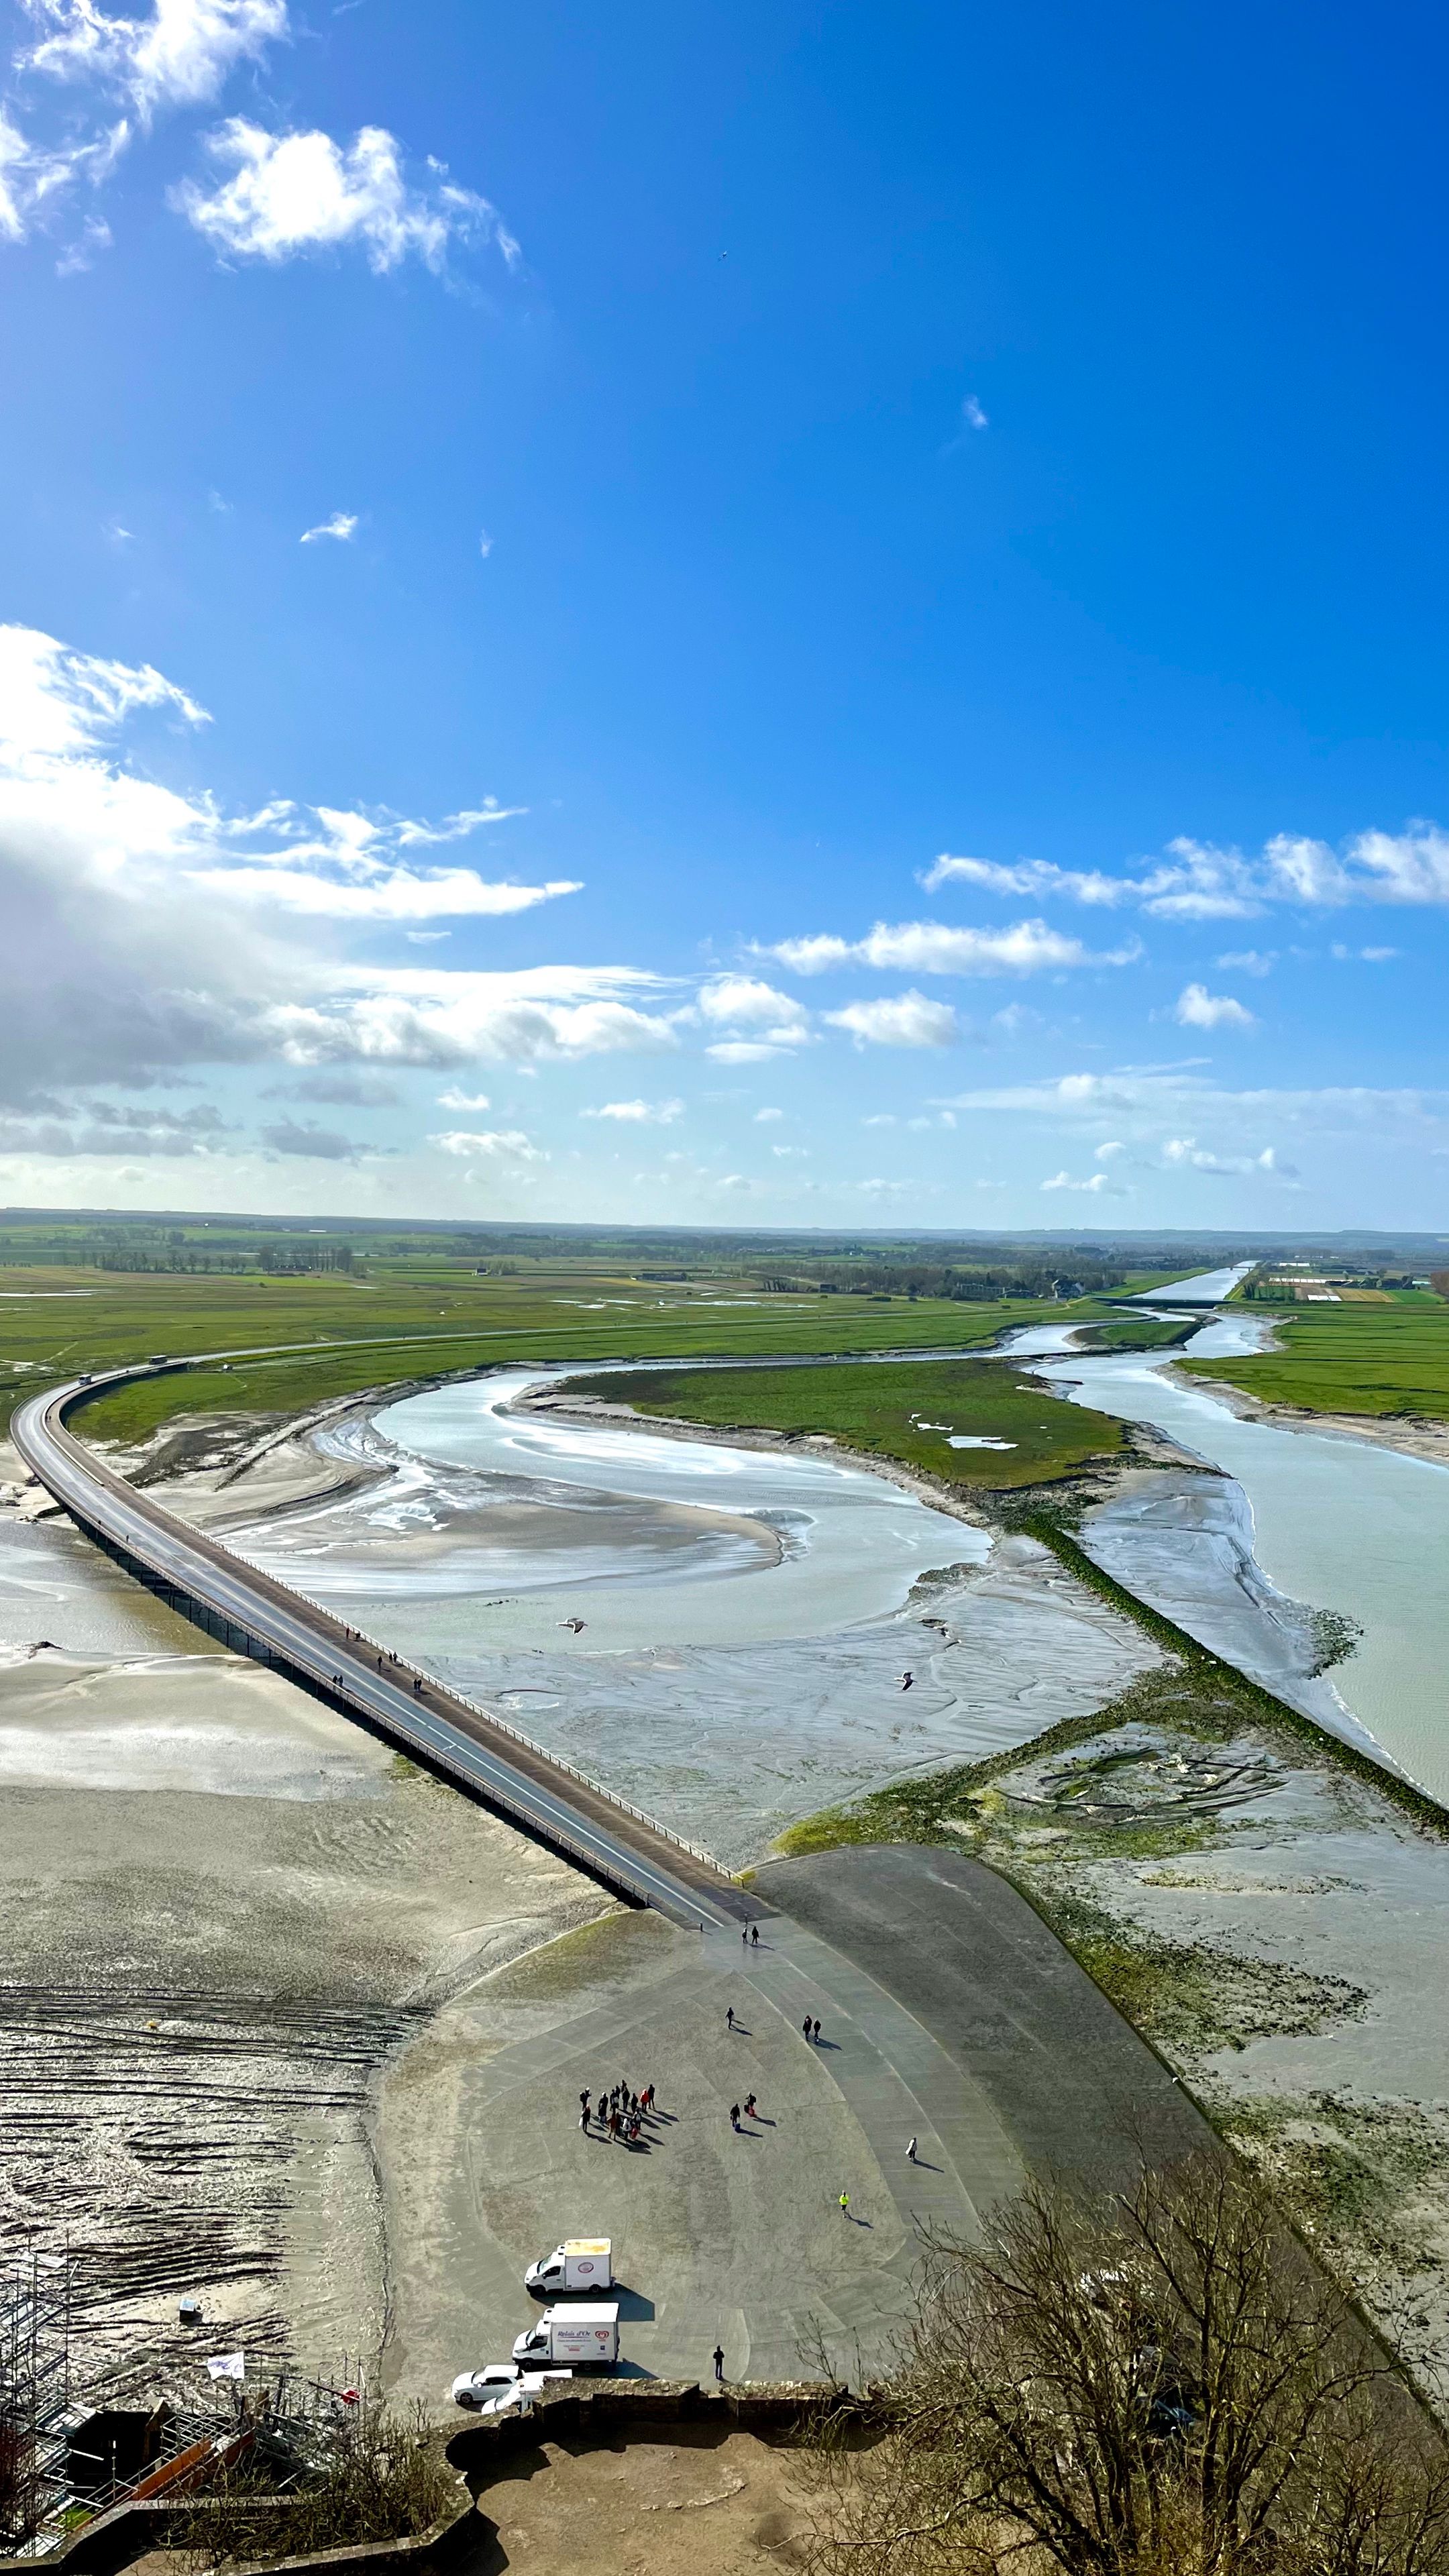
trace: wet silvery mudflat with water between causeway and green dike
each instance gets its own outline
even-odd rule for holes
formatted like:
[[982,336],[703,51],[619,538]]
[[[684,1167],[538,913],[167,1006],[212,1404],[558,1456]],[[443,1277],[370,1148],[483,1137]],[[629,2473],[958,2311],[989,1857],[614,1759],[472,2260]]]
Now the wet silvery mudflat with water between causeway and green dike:
[[549,1383],[358,1406],[168,1499],[732,1868],[1155,1662],[1029,1538],[820,1448],[516,1409]]

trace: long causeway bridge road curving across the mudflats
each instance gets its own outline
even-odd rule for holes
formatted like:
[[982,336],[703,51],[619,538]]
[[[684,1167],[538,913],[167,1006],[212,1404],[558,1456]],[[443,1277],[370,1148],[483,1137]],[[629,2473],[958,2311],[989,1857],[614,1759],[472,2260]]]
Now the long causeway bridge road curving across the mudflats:
[[748,1911],[743,1891],[706,1855],[691,1852],[608,1790],[379,1651],[214,1538],[173,1520],[64,1430],[64,1412],[98,1386],[147,1373],[155,1370],[75,1381],[34,1396],[13,1417],[10,1437],[21,1458],[90,1538],[131,1571],[139,1569],[142,1579],[183,1595],[180,1607],[204,1605],[227,1643],[253,1654],[260,1649],[291,1680],[345,1716],[364,1718],[637,1904],[657,1906],[681,1924],[730,1924]]

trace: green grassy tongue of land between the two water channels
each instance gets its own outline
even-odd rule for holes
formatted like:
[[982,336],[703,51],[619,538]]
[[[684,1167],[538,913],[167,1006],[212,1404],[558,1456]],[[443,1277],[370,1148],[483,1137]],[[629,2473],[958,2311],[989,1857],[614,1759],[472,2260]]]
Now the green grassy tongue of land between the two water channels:
[[[825,1432],[941,1484],[1008,1492],[1116,1455],[1124,1425],[1062,1404],[1000,1360],[892,1360],[879,1368],[712,1368],[572,1378],[570,1388],[712,1430]],[[936,1425],[936,1427],[931,1427]],[[1011,1448],[951,1448],[946,1430]]]

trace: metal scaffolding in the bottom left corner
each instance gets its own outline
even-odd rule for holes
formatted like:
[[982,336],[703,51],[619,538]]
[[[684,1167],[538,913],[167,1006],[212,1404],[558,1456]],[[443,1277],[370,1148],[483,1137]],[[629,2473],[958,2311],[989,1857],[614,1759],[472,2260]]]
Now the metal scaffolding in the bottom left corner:
[[0,2545],[26,2553],[67,2496],[67,2254],[23,2254],[0,2272]]

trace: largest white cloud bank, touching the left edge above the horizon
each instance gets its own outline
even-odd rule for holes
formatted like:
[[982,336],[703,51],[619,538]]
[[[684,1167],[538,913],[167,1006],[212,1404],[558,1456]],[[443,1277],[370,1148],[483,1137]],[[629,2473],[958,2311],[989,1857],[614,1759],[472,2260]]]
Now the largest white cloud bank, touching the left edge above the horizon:
[[518,912],[549,889],[405,866],[397,824],[364,814],[229,819],[119,755],[124,732],[206,721],[150,665],[0,629],[0,1103],[206,1064],[387,1074],[678,1048],[639,969],[348,961],[353,927]]

